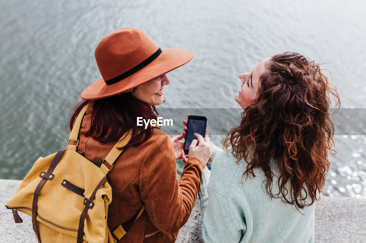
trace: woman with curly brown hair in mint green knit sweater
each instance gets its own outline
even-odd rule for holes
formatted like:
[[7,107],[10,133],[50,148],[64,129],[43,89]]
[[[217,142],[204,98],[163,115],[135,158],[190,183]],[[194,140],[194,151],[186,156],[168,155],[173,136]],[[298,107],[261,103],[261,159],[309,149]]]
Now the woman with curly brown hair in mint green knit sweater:
[[239,75],[244,109],[225,151],[203,170],[205,242],[314,242],[314,208],[334,154],[328,109],[340,100],[319,65],[298,53]]

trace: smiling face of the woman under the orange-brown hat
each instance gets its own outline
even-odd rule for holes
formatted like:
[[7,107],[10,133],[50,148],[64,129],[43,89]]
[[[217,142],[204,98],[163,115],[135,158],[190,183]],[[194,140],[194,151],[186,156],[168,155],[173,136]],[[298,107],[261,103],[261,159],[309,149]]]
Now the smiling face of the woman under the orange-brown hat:
[[150,105],[160,105],[164,101],[163,89],[164,85],[169,84],[170,80],[167,74],[154,78],[145,84],[141,84],[131,91],[132,95],[141,101],[145,101]]

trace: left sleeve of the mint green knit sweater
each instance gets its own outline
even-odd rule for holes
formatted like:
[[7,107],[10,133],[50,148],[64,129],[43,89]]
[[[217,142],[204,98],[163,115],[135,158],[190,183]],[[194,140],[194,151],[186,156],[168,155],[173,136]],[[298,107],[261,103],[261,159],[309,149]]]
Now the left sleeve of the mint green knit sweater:
[[233,207],[232,200],[224,193],[229,188],[220,188],[219,183],[208,186],[210,176],[217,178],[219,174],[217,170],[212,174],[203,170],[198,193],[202,208],[202,238],[205,242],[240,242],[246,230],[243,212]]

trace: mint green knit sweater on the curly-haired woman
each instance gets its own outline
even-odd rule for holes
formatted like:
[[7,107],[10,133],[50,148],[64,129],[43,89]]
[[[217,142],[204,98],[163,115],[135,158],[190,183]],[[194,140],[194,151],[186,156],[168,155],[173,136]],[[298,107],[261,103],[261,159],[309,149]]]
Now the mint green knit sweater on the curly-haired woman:
[[[299,209],[280,198],[270,198],[265,190],[263,170],[241,183],[246,163],[236,164],[231,153],[219,153],[212,170],[203,170],[201,189],[202,238],[207,242],[314,242],[315,204]],[[278,165],[271,161],[273,173]],[[272,192],[278,192],[273,177]]]

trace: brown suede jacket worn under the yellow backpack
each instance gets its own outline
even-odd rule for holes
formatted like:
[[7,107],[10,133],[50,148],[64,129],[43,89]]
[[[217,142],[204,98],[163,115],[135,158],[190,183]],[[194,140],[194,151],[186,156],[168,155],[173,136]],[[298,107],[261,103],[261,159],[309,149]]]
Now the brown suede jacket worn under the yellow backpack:
[[[94,157],[104,159],[115,143],[101,144],[83,135],[89,130],[90,120],[89,110],[82,121],[78,151],[90,161]],[[112,187],[109,229],[113,231],[131,219],[145,204],[145,212],[119,242],[175,242],[178,230],[191,214],[201,177],[202,163],[193,157],[178,181],[171,138],[154,128],[146,142],[127,147],[107,175]]]

